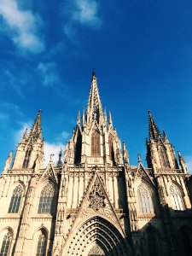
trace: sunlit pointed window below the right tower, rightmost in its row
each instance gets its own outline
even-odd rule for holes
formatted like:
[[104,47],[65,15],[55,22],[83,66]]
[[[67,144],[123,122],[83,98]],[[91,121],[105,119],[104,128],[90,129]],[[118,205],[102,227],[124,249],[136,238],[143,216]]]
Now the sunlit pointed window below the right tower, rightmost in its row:
[[171,200],[172,200],[172,209],[176,210],[176,211],[183,211],[184,203],[183,203],[180,189],[178,189],[176,186],[172,185],[170,187],[170,195],[171,195]]

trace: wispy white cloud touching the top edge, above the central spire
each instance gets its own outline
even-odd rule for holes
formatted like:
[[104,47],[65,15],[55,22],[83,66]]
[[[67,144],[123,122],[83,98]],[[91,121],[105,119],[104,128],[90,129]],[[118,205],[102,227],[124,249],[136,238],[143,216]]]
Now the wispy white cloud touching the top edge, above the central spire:
[[67,22],[64,32],[71,41],[76,41],[76,25],[89,26],[98,29],[102,26],[102,18],[98,14],[99,3],[96,0],[73,0],[70,2],[65,15]]

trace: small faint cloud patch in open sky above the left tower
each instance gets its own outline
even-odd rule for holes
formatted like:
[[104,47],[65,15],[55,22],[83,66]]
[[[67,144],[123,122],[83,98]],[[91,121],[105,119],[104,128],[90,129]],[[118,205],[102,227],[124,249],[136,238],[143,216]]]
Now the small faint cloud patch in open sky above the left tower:
[[54,86],[60,83],[60,76],[56,71],[54,62],[40,62],[38,64],[38,71],[41,75],[44,87]]

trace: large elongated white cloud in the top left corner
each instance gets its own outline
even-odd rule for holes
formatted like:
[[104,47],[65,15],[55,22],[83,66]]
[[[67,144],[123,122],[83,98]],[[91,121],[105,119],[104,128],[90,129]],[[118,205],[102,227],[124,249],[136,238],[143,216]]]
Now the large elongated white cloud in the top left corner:
[[38,53],[44,50],[43,41],[38,38],[38,15],[30,10],[20,9],[16,0],[0,0],[0,15],[13,42],[21,49]]

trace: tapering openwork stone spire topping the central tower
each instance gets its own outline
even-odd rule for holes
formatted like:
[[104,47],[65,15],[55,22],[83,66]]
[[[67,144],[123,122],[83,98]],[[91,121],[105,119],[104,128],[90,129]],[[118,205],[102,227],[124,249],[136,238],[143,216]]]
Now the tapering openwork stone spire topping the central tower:
[[93,71],[90,84],[90,96],[87,105],[87,123],[91,125],[95,119],[98,124],[102,121],[102,103],[96,82],[96,73]]

